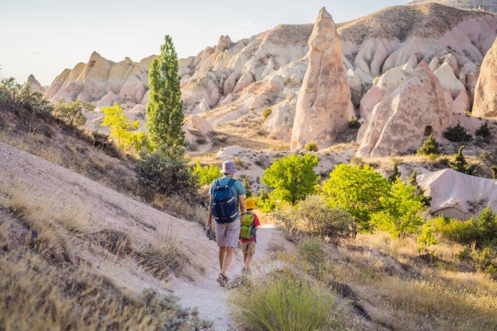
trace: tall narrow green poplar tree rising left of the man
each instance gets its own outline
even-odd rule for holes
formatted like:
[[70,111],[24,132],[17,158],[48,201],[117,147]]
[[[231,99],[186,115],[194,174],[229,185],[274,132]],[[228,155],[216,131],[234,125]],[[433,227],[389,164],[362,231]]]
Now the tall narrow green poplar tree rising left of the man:
[[178,76],[178,57],[169,35],[161,45],[161,54],[149,68],[150,101],[147,106],[147,129],[151,146],[184,144],[183,103]]

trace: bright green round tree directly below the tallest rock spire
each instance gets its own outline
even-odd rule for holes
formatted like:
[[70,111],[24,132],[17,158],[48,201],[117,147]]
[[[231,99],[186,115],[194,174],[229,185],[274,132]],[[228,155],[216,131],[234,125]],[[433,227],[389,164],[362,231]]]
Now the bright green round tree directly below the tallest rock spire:
[[314,167],[318,163],[319,158],[312,154],[290,154],[275,159],[264,171],[261,180],[264,185],[273,188],[271,196],[274,199],[295,205],[316,192],[319,174],[314,172]]

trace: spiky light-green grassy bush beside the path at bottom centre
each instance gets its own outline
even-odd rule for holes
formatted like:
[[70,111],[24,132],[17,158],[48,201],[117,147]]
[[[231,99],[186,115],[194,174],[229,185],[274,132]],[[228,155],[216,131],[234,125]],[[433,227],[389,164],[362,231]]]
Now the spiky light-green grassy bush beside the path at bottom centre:
[[235,318],[243,330],[326,330],[334,301],[329,291],[284,273],[241,288]]

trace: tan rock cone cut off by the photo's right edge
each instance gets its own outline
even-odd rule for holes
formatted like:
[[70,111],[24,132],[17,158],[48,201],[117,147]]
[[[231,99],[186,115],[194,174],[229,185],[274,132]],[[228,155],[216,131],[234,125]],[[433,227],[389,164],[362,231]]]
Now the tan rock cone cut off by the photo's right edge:
[[497,116],[497,39],[487,52],[475,88],[473,115]]

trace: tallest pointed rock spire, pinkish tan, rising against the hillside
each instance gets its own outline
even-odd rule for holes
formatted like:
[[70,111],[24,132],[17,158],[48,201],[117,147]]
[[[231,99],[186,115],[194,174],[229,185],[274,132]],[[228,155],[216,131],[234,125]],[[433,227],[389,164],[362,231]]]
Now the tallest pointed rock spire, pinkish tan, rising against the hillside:
[[309,38],[308,58],[309,66],[297,99],[292,149],[309,141],[315,141],[320,148],[329,147],[353,115],[340,38],[325,8],[319,12]]

